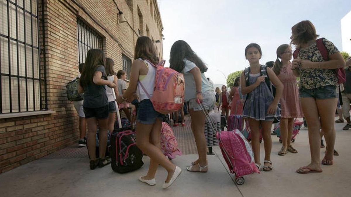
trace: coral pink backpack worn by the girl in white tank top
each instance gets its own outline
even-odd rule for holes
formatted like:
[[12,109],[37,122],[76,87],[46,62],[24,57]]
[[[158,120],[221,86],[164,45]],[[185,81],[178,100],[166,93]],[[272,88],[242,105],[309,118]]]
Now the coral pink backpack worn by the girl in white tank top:
[[148,60],[144,60],[156,67],[155,88],[152,97],[145,90],[143,84],[138,81],[145,94],[150,98],[155,111],[161,114],[169,114],[178,111],[184,103],[184,76],[169,67],[164,67],[165,60],[155,66]]

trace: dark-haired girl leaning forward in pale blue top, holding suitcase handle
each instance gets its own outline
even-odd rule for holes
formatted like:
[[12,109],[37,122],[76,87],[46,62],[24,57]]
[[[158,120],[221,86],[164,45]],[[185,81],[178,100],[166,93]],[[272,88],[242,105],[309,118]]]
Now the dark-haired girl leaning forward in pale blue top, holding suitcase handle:
[[184,73],[185,101],[189,101],[191,129],[193,131],[199,159],[192,162],[186,170],[191,172],[207,172],[205,114],[197,100],[203,103],[205,110],[214,108],[215,96],[212,83],[207,80],[204,72],[205,63],[196,55],[191,47],[183,40],[174,42],[171,48],[170,68]]

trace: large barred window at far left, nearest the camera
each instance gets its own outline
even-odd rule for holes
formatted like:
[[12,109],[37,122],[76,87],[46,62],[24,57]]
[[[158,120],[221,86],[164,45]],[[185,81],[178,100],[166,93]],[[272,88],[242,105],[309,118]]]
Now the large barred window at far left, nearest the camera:
[[42,110],[37,0],[2,0],[0,10],[0,114]]

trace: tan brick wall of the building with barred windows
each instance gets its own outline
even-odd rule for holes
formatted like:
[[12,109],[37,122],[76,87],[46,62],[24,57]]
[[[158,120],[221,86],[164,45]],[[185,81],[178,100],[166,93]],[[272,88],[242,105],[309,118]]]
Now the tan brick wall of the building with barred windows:
[[[153,1],[155,13],[157,2]],[[150,1],[115,0],[128,23],[139,28],[137,7],[143,14],[150,37],[161,40],[160,16],[151,16]],[[131,9],[132,8],[132,9]],[[41,1],[39,16],[41,19]],[[133,11],[133,12],[132,12]],[[66,98],[66,84],[78,75],[77,18],[85,21],[103,37],[107,57],[115,62],[115,70],[122,68],[122,53],[133,60],[138,35],[128,23],[118,24],[118,10],[114,1],[44,0],[45,28],[40,22],[40,47],[45,36],[48,109],[51,115],[0,119],[0,173],[41,158],[54,151],[75,144],[79,138],[78,116]],[[159,26],[157,23],[159,22]],[[156,44],[162,55],[162,43]],[[40,54],[41,74],[44,73],[44,53]],[[42,93],[44,93],[42,86]]]

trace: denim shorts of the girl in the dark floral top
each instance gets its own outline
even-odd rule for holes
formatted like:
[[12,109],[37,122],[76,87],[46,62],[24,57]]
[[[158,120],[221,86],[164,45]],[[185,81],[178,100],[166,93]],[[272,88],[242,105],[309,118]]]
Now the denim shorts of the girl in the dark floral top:
[[336,99],[336,87],[333,85],[322,86],[319,88],[306,89],[304,87],[299,88],[300,98],[312,97],[315,99]]

